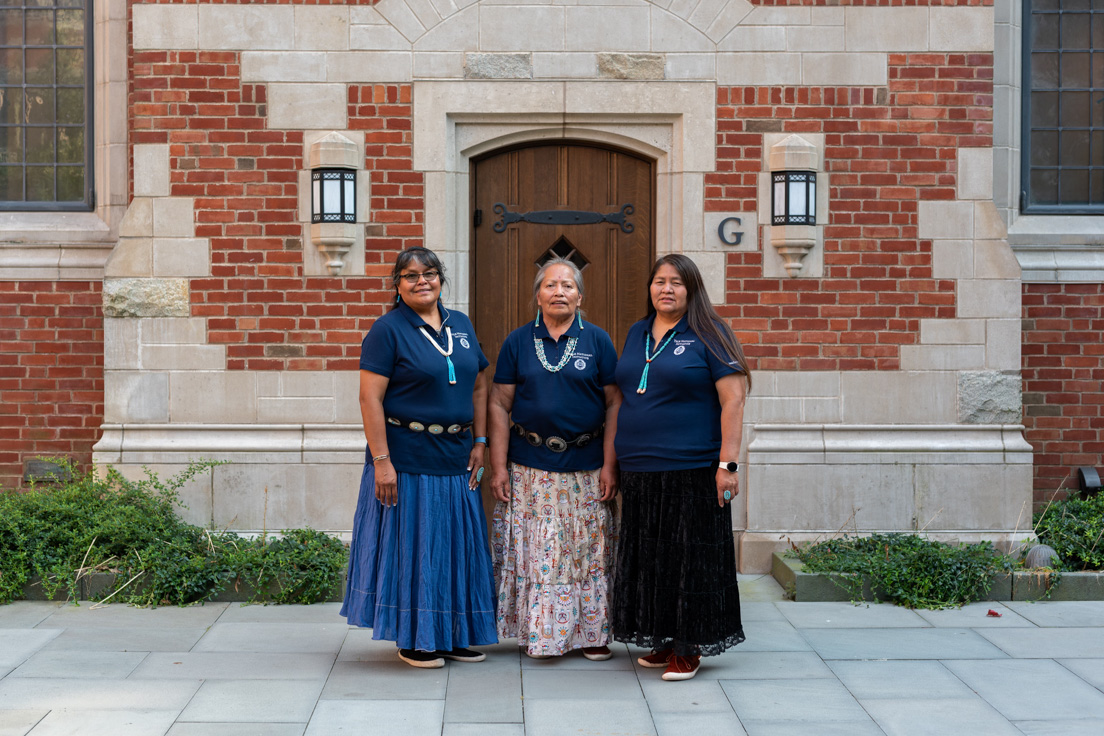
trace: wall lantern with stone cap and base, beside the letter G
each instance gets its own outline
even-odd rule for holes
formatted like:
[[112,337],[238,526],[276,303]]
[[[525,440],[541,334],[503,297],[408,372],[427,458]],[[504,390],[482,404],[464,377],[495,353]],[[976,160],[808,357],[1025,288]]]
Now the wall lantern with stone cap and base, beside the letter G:
[[817,243],[817,147],[787,136],[771,147],[771,245],[790,278]]

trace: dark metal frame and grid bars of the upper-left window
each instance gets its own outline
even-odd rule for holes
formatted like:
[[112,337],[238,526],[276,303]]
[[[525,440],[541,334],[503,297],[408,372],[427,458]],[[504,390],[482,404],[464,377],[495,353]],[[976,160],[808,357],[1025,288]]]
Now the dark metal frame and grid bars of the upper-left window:
[[[95,36],[95,18],[93,12],[94,0],[83,0],[79,6],[61,6],[55,4],[49,6],[50,9],[56,10],[68,10],[74,8],[79,8],[84,11],[84,193],[81,200],[60,202],[55,200],[47,201],[19,201],[19,200],[0,200],[0,212],[92,212],[95,210],[95,149],[96,149],[96,129],[95,129],[95,108],[94,108],[94,87],[95,77],[94,74],[94,46],[93,39]],[[23,0],[19,4],[0,6],[4,10],[44,10],[43,6],[30,4],[28,0]],[[55,20],[55,33],[56,33],[56,20]],[[13,46],[9,46],[13,47]],[[64,49],[65,46],[57,43],[56,36],[54,38],[54,43],[49,45],[34,45],[29,46],[26,44],[26,20],[24,17],[23,21],[23,44],[20,46],[23,49],[24,53],[26,49]],[[42,85],[28,84],[25,74],[25,60],[23,66],[23,77],[19,89],[21,94],[24,95],[28,87],[35,87]],[[51,85],[53,89],[57,89],[60,85],[57,84],[57,65],[56,61],[54,63],[54,82]],[[9,86],[10,88],[15,88],[14,85]],[[56,131],[57,129],[57,109],[56,109],[56,97],[55,97],[55,108],[54,108],[54,122],[52,127]],[[12,126],[14,127],[14,126]],[[28,129],[28,124],[21,124],[23,130]],[[75,126],[72,126],[75,127]],[[56,136],[56,134],[55,134]],[[23,146],[23,160],[22,166],[25,170],[26,163],[26,136],[22,137],[21,145]],[[55,148],[54,148],[54,166],[57,164],[57,149],[56,149],[56,137],[55,137]],[[57,178],[54,177],[54,195],[57,194]],[[26,177],[24,173],[23,178],[23,195],[26,195]]]

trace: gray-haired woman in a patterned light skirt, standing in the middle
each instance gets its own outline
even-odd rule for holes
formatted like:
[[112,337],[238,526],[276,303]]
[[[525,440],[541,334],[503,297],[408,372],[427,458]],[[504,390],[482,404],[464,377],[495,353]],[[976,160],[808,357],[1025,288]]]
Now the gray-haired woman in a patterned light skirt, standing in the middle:
[[609,335],[583,321],[564,258],[533,280],[537,318],[507,337],[488,405],[498,633],[535,659],[612,657],[607,606],[620,392]]

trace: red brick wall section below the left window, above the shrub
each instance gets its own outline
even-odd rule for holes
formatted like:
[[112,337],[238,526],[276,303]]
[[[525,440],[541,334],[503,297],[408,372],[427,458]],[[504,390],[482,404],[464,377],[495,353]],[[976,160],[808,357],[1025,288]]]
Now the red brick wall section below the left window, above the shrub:
[[99,284],[0,281],[0,488],[38,456],[91,463],[103,416]]

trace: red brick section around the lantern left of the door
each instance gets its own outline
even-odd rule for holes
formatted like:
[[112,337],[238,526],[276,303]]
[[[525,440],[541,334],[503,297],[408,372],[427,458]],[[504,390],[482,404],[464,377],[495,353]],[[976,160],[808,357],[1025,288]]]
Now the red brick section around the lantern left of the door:
[[132,54],[132,143],[169,143],[171,194],[194,198],[211,277],[192,314],[231,370],[355,370],[360,341],[391,299],[396,250],[422,244],[410,85],[350,85],[349,126],[365,135],[371,224],[363,277],[304,275],[298,221],[302,131],[266,129],[266,88],[242,84],[236,52]]

